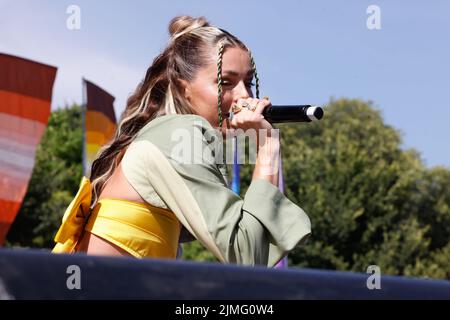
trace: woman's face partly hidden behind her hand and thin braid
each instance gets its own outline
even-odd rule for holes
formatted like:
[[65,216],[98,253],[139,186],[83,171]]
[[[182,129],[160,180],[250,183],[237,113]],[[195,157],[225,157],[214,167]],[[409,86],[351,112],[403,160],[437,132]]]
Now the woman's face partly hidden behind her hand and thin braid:
[[[204,117],[217,128],[219,114],[217,109],[217,60],[218,49],[211,49],[207,66],[197,71],[193,81],[186,83],[185,96],[197,114]],[[253,68],[247,50],[228,47],[222,56],[222,132],[226,130],[226,116],[238,99],[253,97]]]

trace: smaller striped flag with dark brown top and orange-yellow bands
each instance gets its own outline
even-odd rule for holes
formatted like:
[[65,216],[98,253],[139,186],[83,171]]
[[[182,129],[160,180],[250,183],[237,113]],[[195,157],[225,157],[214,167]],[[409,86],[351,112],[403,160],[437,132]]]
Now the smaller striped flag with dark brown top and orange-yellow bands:
[[114,97],[97,85],[83,79],[84,147],[83,171],[89,177],[92,162],[99,149],[113,138],[116,129]]

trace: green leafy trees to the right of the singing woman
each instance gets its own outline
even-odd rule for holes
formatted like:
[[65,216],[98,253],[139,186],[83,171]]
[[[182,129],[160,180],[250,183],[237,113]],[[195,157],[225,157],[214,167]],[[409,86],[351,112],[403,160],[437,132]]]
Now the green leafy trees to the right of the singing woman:
[[[312,222],[291,266],[450,276],[450,171],[403,150],[371,102],[331,101],[321,121],[278,127],[285,192]],[[245,192],[252,166],[242,171]]]

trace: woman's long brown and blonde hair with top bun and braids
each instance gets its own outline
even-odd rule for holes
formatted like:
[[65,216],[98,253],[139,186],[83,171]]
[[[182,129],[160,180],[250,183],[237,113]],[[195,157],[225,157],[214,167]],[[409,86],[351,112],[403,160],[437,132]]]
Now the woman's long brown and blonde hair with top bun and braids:
[[[195,114],[195,110],[182,93],[179,80],[193,80],[197,71],[210,63],[210,50],[214,47],[219,48],[218,116],[219,123],[222,124],[221,68],[224,49],[248,48],[229,32],[210,25],[204,17],[175,17],[169,23],[169,34],[167,47],[153,60],[144,79],[128,98],[114,138],[100,149],[92,164],[91,207],[97,203],[98,196],[120,163],[126,147],[144,125],[165,114]],[[259,97],[259,79],[252,57],[251,61],[255,71],[256,96]]]

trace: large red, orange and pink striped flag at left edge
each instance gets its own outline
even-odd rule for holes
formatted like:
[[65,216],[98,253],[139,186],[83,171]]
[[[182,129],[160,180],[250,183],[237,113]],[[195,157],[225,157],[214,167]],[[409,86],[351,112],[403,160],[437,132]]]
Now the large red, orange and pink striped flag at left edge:
[[0,53],[0,245],[28,188],[50,116],[56,70]]

